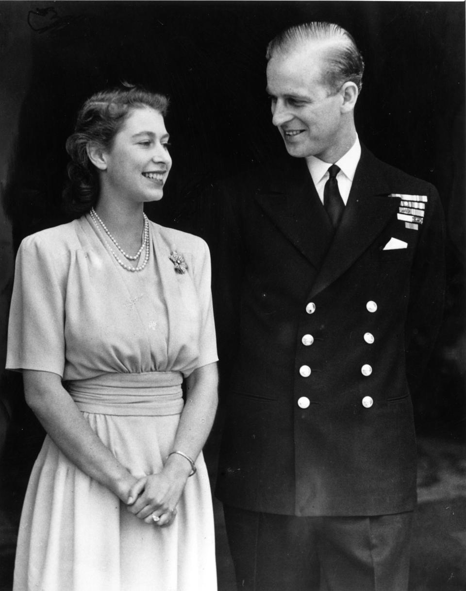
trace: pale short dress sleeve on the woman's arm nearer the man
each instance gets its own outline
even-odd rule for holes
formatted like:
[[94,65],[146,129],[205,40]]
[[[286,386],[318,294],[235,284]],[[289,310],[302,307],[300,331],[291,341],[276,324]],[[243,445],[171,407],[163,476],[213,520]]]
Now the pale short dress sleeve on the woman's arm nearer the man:
[[194,269],[194,283],[198,293],[201,310],[201,328],[199,332],[199,356],[196,367],[219,361],[215,335],[214,312],[211,293],[210,251],[207,243],[201,241],[199,260]]

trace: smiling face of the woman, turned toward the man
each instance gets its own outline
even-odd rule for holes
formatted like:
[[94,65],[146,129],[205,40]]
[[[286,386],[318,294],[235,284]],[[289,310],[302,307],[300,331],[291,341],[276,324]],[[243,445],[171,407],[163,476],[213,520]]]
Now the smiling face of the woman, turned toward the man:
[[101,194],[137,203],[162,199],[171,168],[168,139],[158,111],[132,109],[112,147],[102,153]]

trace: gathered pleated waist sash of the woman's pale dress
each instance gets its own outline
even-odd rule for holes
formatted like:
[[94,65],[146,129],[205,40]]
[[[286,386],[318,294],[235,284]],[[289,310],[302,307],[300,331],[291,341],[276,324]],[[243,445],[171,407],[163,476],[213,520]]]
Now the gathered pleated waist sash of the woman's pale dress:
[[181,413],[182,382],[181,372],[102,374],[66,388],[84,413],[154,416]]

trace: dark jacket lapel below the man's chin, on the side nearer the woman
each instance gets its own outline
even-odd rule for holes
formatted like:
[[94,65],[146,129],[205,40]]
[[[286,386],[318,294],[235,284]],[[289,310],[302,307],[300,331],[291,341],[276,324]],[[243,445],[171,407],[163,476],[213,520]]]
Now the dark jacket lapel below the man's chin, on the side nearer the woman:
[[283,235],[308,261],[320,268],[333,229],[304,158],[289,163],[255,195],[256,201]]

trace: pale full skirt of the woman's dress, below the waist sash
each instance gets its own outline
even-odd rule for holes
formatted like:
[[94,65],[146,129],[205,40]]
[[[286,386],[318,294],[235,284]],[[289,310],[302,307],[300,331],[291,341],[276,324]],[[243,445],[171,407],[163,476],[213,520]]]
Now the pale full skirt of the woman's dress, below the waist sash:
[[[135,475],[159,472],[179,414],[83,412]],[[145,524],[47,436],[19,526],[13,591],[216,591],[210,483],[202,454],[169,527]]]

